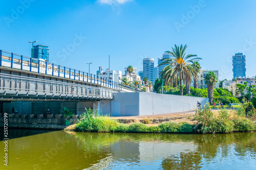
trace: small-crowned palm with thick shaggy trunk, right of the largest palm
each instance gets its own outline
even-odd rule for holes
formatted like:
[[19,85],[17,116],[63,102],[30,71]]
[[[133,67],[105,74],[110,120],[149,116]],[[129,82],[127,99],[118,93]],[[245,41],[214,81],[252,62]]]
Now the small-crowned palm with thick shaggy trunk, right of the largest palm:
[[207,84],[208,98],[210,105],[212,104],[212,99],[214,98],[214,86],[217,82],[216,75],[214,72],[209,71],[204,77],[205,84]]

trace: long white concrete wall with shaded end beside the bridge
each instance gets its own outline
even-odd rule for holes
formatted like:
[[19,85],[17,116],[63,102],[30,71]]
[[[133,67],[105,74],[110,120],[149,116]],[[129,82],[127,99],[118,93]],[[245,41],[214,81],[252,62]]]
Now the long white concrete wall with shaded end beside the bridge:
[[208,102],[208,98],[153,92],[114,93],[114,99],[111,101],[111,115],[155,115],[190,111],[196,109],[197,101],[204,105]]

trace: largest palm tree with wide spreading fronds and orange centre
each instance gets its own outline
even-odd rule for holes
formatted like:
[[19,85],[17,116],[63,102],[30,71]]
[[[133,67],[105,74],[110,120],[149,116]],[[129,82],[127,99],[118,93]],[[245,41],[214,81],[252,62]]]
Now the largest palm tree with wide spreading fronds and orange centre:
[[[186,85],[187,90],[189,84],[191,83],[191,77],[194,77],[197,72],[198,68],[194,66],[196,61],[201,60],[202,58],[197,57],[197,55],[188,54],[186,55],[187,45],[184,47],[182,45],[177,46],[175,44],[175,48],[172,48],[172,52],[165,52],[169,53],[173,58],[165,58],[162,59],[162,63],[158,66],[167,64],[163,70],[160,72],[161,77],[166,77],[167,83],[170,81],[178,81],[180,84],[180,95],[183,95],[183,84]],[[163,74],[163,75],[162,75]]]

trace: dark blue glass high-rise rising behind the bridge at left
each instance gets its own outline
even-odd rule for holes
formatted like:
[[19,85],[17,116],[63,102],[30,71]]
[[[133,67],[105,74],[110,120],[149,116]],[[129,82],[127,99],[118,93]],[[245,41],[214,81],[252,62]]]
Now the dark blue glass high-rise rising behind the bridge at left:
[[46,45],[34,45],[33,46],[34,49],[31,49],[31,53],[34,52],[34,54],[32,55],[33,58],[37,58],[37,59],[44,59],[47,62],[49,62],[49,49],[48,46]]

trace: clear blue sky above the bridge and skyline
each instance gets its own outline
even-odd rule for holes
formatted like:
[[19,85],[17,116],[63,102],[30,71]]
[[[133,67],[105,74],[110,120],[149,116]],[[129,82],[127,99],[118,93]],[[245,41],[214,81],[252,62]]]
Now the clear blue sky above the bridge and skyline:
[[2,1],[0,49],[31,55],[31,43],[49,45],[50,62],[96,74],[98,66],[142,70],[174,44],[203,58],[203,69],[232,78],[231,57],[246,55],[256,75],[256,1]]

